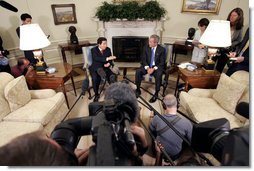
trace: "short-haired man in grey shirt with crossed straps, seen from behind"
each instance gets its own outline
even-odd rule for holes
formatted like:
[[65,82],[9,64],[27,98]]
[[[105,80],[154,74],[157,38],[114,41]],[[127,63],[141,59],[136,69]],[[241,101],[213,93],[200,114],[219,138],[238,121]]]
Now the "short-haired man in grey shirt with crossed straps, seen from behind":
[[[182,136],[191,142],[192,123],[186,118],[179,117],[177,112],[177,100],[174,95],[164,97],[165,114],[163,117],[170,122]],[[165,148],[172,160],[176,160],[182,151],[183,140],[158,116],[154,116],[150,123],[150,130]]]

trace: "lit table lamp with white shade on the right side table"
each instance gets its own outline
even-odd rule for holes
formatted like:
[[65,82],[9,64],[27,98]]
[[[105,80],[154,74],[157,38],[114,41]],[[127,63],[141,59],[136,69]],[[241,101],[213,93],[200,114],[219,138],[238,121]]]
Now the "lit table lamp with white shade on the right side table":
[[218,48],[231,46],[230,22],[211,20],[199,42],[208,46],[208,60],[205,62],[204,68],[213,70],[215,62],[212,57],[216,55]]

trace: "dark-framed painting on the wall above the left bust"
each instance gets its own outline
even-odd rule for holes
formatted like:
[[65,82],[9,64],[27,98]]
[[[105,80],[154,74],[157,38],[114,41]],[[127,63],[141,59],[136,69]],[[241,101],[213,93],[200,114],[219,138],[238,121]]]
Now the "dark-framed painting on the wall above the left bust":
[[77,23],[75,4],[51,5],[55,25]]

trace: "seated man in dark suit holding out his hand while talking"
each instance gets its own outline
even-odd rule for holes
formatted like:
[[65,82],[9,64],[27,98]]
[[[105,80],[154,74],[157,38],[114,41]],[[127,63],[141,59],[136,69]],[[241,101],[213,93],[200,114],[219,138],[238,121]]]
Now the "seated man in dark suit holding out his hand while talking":
[[89,67],[95,93],[94,101],[98,101],[100,98],[98,90],[101,80],[108,80],[109,83],[116,81],[116,75],[110,69],[114,65],[113,60],[116,57],[112,56],[110,48],[107,47],[107,39],[99,37],[97,44],[96,47],[91,49],[92,65]]

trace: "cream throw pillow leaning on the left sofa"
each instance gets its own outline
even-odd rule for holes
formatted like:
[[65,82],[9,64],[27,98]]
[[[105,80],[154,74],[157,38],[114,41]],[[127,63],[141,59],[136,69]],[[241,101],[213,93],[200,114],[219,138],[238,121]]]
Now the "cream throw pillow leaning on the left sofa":
[[10,81],[4,89],[4,96],[9,103],[11,112],[27,104],[31,100],[31,95],[25,77],[22,75]]

